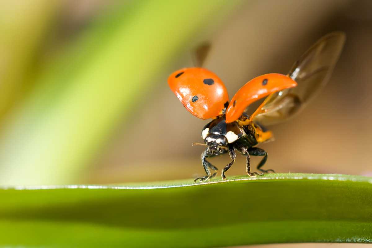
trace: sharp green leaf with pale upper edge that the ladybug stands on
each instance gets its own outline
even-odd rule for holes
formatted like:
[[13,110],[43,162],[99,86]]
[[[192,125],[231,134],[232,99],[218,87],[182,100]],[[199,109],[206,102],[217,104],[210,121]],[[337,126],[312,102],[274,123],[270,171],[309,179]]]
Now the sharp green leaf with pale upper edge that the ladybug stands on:
[[0,190],[0,245],[223,247],[372,242],[372,178],[238,176]]

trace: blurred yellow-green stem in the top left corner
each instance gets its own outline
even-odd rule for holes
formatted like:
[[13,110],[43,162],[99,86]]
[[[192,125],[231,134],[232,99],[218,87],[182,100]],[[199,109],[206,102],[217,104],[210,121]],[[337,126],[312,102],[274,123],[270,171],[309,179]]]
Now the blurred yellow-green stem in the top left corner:
[[0,120],[22,98],[31,62],[60,1],[6,1],[0,7]]

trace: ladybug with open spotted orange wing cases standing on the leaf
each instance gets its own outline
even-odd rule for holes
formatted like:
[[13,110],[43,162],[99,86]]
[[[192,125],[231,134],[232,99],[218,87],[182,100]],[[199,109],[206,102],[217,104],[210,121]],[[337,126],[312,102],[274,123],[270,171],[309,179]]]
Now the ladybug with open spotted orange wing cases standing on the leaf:
[[[183,106],[196,117],[212,118],[202,129],[204,144],[200,144],[206,146],[201,156],[206,175],[195,181],[213,178],[218,169],[206,159],[224,153],[230,155],[231,162],[222,169],[222,180],[234,164],[236,152],[247,157],[249,176],[274,173],[274,170],[262,168],[267,152],[256,147],[273,139],[272,132],[264,126],[294,116],[327,83],[345,37],[343,32],[323,36],[295,62],[287,75],[270,73],[253,78],[231,101],[222,80],[205,68],[183,68],[172,73],[168,84]],[[258,101],[262,102],[255,111],[250,111],[251,104]],[[250,156],[263,156],[257,166],[260,174],[251,172]]]

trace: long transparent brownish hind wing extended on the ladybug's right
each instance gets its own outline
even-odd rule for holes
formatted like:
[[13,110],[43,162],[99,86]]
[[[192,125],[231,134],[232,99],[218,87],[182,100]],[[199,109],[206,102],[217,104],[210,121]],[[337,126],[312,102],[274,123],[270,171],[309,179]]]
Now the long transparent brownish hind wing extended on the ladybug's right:
[[319,39],[295,62],[288,73],[298,86],[269,95],[250,119],[262,125],[272,125],[301,111],[327,84],[340,57],[345,38],[343,32],[333,32]]

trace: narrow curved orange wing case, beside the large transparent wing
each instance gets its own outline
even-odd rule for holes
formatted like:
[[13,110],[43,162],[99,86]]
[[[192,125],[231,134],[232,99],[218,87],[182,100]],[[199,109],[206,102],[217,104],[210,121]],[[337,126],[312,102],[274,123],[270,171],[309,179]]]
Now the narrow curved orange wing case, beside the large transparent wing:
[[297,86],[296,81],[278,73],[270,73],[253,78],[244,84],[232,97],[226,110],[226,123],[239,119],[249,104],[277,91],[295,86]]

